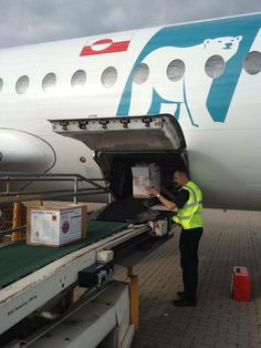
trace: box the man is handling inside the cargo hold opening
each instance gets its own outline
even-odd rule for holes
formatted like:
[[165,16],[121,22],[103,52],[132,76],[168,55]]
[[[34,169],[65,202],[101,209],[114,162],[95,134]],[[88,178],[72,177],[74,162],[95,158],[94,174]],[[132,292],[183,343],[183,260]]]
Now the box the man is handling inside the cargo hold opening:
[[150,164],[148,166],[134,166],[133,172],[133,196],[135,198],[150,198],[146,187],[154,186],[160,191],[159,167]]

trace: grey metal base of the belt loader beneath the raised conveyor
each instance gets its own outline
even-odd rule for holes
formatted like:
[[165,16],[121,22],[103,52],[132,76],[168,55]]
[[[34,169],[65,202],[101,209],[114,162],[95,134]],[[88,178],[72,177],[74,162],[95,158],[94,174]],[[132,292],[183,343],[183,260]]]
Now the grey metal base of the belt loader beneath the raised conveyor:
[[44,332],[29,337],[23,347],[128,348],[133,336],[128,284],[114,280],[95,297],[83,298],[74,310]]

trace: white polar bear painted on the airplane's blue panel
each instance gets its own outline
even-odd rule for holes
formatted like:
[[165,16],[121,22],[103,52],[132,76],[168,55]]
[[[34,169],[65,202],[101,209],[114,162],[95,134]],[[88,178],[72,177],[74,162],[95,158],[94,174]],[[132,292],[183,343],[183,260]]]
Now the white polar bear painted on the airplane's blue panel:
[[[237,53],[241,40],[242,37],[222,37],[206,39],[200,44],[188,48],[156,49],[142,61],[147,69],[147,76],[144,78],[146,81],[137,82],[133,79],[129,114],[167,112],[177,120],[187,119],[197,126],[202,121],[202,108],[207,112],[207,98],[216,78],[206,72],[207,66],[210,73],[211,69],[221,69],[222,74],[226,63]],[[213,59],[212,66],[210,58]],[[177,74],[177,79],[171,79],[167,73],[171,62],[176,64],[173,73]],[[210,62],[209,65],[207,62]]]

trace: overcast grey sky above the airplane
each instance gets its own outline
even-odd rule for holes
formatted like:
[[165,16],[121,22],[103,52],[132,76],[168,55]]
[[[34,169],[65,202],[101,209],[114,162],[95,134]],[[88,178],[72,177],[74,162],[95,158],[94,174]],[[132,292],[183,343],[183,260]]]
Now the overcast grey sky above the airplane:
[[0,0],[0,48],[261,11],[261,0]]

